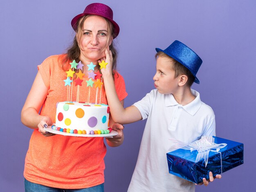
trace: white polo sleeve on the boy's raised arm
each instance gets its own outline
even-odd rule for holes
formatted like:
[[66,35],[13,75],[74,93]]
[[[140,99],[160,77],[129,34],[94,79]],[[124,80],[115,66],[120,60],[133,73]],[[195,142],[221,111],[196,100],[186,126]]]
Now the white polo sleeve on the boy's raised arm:
[[143,97],[140,101],[133,104],[133,106],[137,107],[139,112],[141,113],[142,120],[148,118],[148,115],[153,105],[154,98],[155,92],[154,90],[151,90],[150,93],[147,93],[146,96]]

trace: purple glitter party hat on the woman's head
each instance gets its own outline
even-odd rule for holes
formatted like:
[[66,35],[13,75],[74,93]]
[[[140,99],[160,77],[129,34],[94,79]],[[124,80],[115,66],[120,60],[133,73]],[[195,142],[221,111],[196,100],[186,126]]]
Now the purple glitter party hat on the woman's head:
[[76,15],[71,21],[71,26],[74,29],[74,31],[76,31],[77,29],[77,22],[79,21],[79,19],[85,15],[99,15],[103,18],[106,18],[114,26],[114,38],[116,38],[119,34],[119,26],[113,20],[113,11],[110,7],[108,7],[108,5],[102,3],[92,3],[85,7],[83,13]]

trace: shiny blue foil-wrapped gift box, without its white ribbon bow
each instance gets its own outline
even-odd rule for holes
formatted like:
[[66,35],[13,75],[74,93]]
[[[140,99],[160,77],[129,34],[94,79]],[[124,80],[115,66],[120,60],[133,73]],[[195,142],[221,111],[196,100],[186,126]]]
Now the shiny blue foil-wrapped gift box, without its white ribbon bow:
[[243,143],[220,137],[214,138],[214,143],[227,143],[227,146],[221,148],[219,152],[210,151],[206,167],[204,159],[195,162],[197,151],[191,152],[180,148],[167,153],[169,173],[193,183],[201,183],[203,178],[209,179],[210,171],[215,176],[243,164]]

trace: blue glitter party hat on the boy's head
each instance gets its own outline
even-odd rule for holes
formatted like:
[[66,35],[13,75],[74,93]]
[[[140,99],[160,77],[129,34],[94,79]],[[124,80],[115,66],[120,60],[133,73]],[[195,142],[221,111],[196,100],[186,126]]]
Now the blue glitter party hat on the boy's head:
[[159,48],[155,48],[157,53],[159,51],[164,52],[166,55],[169,55],[174,60],[179,62],[180,64],[184,65],[189,71],[194,75],[195,80],[194,82],[199,84],[199,80],[196,77],[196,73],[202,64],[202,59],[188,46],[183,44],[180,41],[175,40],[170,46],[166,49],[162,50]]

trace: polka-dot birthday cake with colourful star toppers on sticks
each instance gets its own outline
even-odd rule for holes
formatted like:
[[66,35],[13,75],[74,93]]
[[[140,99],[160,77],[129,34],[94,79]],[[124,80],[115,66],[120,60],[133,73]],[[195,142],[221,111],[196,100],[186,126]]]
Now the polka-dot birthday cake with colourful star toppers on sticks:
[[[106,64],[108,63],[102,61],[99,63],[100,68],[106,68]],[[87,65],[89,79],[86,81],[87,86],[89,86],[88,100],[86,103],[79,102],[79,87],[82,86],[81,83],[83,82],[83,76],[85,76],[85,74],[81,72],[81,70],[83,70],[83,64],[81,61],[76,63],[74,60],[70,65],[71,68],[69,71],[66,71],[67,79],[63,80],[65,82],[65,86],[67,86],[67,102],[58,102],[56,106],[56,124],[52,125],[52,129],[72,134],[92,135],[110,133],[112,131],[112,129],[108,127],[110,108],[106,104],[101,104],[101,86],[103,85],[101,78],[102,75],[99,71],[94,73],[94,67],[96,65],[92,62]],[[79,73],[76,73],[76,78],[73,76],[75,73],[74,69],[79,69]],[[71,102],[73,82],[75,83],[75,86],[77,86],[76,102]],[[91,88],[92,91],[96,92],[96,102],[94,104],[89,103]],[[97,104],[98,94],[100,104]]]

